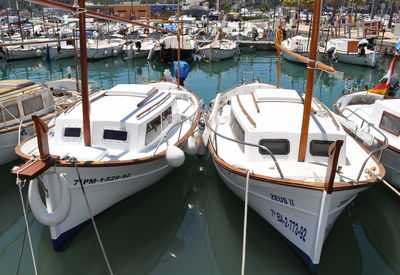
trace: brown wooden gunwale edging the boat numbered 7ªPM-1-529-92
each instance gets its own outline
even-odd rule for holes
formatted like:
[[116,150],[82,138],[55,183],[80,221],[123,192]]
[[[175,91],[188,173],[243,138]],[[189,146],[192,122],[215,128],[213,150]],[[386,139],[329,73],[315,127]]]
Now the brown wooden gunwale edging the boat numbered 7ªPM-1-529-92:
[[[158,82],[155,82],[155,83],[158,83]],[[194,94],[193,92],[190,92],[189,90],[187,90],[187,92],[189,92],[196,99],[197,104],[199,105],[200,99],[197,97],[197,95]],[[199,105],[199,107],[200,107],[200,105]],[[195,131],[195,129],[199,123],[200,117],[201,117],[201,113],[198,112],[195,119],[193,120],[193,123],[192,123],[192,126],[190,127],[190,129],[187,131],[187,133],[185,135],[183,135],[181,137],[181,139],[179,139],[174,144],[175,146],[177,146],[177,147],[181,146],[189,138],[189,136],[191,134],[193,134],[193,132]],[[29,160],[31,158],[31,156],[23,153],[21,151],[21,147],[23,146],[23,144],[25,144],[27,141],[31,140],[32,138],[36,138],[36,134],[27,138],[26,140],[22,141],[15,148],[15,153],[25,160]],[[163,157],[165,157],[165,154],[166,154],[166,150],[161,151],[151,157],[144,157],[144,158],[131,159],[131,160],[119,160],[119,161],[79,161],[75,164],[78,167],[112,167],[112,166],[135,165],[135,164],[145,163],[145,162],[153,161],[153,160],[156,160],[159,158],[163,158]],[[75,164],[69,163],[65,160],[58,160],[57,166],[59,166],[59,167],[74,167]]]

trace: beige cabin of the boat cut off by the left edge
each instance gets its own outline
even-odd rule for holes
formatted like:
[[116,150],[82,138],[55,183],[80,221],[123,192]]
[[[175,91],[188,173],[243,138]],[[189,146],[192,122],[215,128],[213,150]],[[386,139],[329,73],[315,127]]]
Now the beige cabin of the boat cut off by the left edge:
[[55,111],[48,89],[31,80],[0,81],[0,128],[30,121],[32,115],[42,116]]

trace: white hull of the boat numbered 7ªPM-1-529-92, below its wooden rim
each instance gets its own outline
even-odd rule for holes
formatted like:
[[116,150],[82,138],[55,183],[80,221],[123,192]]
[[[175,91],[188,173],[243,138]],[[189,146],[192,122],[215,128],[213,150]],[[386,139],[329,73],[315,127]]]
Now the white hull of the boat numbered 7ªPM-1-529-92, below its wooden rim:
[[[79,167],[78,169],[92,214],[95,216],[115,203],[157,182],[173,168],[167,164],[165,158],[159,158],[133,165]],[[52,211],[57,207],[60,187],[53,183],[59,182],[57,175],[60,173],[66,174],[71,192],[71,209],[63,222],[50,226],[51,238],[56,250],[62,249],[65,242],[90,219],[75,167],[49,169],[40,176],[40,180],[49,190],[49,197],[46,198],[47,210]]]

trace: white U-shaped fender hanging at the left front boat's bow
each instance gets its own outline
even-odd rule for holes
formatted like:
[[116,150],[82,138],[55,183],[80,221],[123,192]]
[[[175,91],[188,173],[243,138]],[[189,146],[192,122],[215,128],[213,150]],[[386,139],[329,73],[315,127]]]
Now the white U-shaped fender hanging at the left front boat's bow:
[[52,226],[62,223],[69,214],[71,208],[71,193],[68,188],[65,175],[60,175],[60,199],[57,208],[53,213],[49,213],[40,197],[38,180],[33,179],[29,184],[28,199],[35,218],[42,224]]

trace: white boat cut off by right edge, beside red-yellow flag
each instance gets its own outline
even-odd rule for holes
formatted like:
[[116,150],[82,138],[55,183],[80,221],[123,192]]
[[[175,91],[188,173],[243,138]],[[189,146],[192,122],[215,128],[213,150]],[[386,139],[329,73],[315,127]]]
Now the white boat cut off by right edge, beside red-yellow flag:
[[[361,142],[374,149],[378,144],[388,147],[381,155],[386,179],[400,187],[400,98],[368,91],[344,94],[337,99],[335,111],[340,123]],[[379,154],[378,154],[379,155]]]

